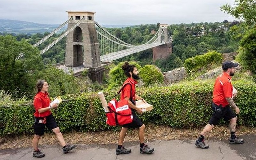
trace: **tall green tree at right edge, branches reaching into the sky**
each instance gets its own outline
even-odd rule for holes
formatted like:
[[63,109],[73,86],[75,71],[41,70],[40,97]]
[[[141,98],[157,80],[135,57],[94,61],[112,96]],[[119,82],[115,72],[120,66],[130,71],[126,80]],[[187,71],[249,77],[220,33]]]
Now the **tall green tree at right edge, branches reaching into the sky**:
[[242,33],[244,36],[240,41],[241,47],[237,60],[244,68],[256,74],[256,3],[255,0],[235,0],[235,3],[235,6],[225,4],[221,10],[245,21],[245,32]]

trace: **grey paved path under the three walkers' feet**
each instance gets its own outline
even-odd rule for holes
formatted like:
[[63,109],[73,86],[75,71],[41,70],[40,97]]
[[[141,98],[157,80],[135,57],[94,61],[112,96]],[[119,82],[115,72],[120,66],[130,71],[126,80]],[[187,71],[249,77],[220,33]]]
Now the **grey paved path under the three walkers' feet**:
[[[76,148],[67,154],[63,154],[60,146],[40,146],[45,157],[40,160],[242,160],[256,159],[256,135],[243,135],[244,144],[230,145],[228,140],[206,138],[209,149],[197,148],[195,140],[156,140],[148,142],[155,151],[151,155],[139,153],[138,142],[124,143],[130,148],[130,154],[116,155],[116,144],[108,145],[84,145],[77,144]],[[1,160],[29,160],[33,158],[32,148],[4,149],[0,150]]]

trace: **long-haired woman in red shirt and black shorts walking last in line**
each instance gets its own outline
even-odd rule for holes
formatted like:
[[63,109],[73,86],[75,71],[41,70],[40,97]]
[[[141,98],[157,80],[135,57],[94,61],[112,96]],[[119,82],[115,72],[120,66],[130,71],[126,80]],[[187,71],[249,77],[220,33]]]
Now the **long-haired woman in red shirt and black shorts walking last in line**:
[[44,153],[38,149],[38,142],[42,135],[44,135],[45,126],[52,130],[57,139],[59,140],[61,146],[63,147],[63,152],[68,153],[68,151],[74,149],[75,145],[66,144],[60,128],[58,127],[54,117],[52,116],[51,110],[58,107],[57,103],[50,105],[50,96],[48,94],[48,83],[44,80],[38,80],[36,84],[37,93],[34,96],[34,108],[35,108],[35,122],[33,124],[34,128],[34,138],[32,141],[32,146],[34,148],[33,157],[41,158],[44,157]]

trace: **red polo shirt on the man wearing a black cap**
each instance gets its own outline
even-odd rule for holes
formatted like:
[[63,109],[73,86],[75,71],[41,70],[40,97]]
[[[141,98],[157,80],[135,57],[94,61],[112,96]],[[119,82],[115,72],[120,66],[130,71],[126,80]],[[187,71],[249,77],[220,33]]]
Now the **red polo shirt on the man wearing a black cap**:
[[227,106],[229,103],[226,98],[232,97],[232,92],[231,77],[223,72],[215,81],[212,101],[217,105]]

